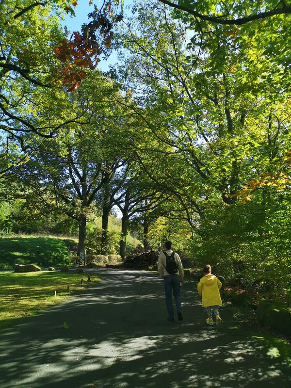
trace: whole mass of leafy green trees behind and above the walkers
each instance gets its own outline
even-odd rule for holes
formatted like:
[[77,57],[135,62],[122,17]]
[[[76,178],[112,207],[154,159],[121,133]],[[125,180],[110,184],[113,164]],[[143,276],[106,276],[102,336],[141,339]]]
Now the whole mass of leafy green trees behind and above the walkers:
[[290,298],[291,7],[90,3],[68,32],[77,1],[0,1],[2,235],[122,259],[132,235],[170,239],[193,266]]

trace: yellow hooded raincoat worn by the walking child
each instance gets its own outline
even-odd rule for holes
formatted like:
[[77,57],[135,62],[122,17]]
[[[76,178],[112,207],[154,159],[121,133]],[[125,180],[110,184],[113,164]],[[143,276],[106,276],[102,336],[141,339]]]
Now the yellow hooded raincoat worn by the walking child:
[[222,283],[215,275],[205,275],[200,279],[197,290],[199,295],[202,295],[202,307],[222,305],[219,293],[221,287]]

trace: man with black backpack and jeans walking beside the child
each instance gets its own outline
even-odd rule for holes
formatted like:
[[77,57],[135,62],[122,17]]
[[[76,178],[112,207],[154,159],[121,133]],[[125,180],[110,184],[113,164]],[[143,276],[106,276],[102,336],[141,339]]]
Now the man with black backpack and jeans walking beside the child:
[[166,241],[164,251],[159,256],[158,271],[163,278],[166,306],[169,317],[168,321],[174,322],[174,310],[172,302],[172,289],[177,307],[178,320],[182,321],[180,282],[183,283],[184,270],[178,253],[172,251],[172,242]]

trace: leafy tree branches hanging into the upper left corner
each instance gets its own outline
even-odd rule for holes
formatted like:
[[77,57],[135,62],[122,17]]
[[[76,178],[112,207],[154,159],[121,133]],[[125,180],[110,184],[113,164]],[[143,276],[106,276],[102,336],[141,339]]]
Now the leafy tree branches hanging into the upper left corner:
[[[65,7],[72,11],[65,0],[61,4],[0,2],[0,141],[4,151],[0,175],[26,162],[35,151],[24,141],[25,134],[49,138],[74,117],[70,114],[63,123],[60,120],[58,106],[64,96],[57,76],[60,66],[53,52],[65,36],[59,21]],[[58,124],[52,109],[49,114],[49,104],[54,105],[55,114],[59,111]]]

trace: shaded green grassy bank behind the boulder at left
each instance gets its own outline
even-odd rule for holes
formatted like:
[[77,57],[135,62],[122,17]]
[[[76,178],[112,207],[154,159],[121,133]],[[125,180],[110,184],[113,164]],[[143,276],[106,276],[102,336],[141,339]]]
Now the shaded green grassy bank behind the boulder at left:
[[56,237],[0,238],[0,269],[14,268],[15,264],[36,264],[42,268],[68,264],[67,248],[76,241]]

